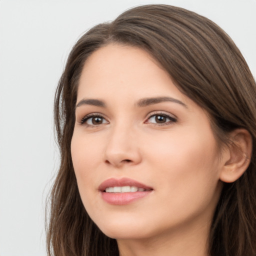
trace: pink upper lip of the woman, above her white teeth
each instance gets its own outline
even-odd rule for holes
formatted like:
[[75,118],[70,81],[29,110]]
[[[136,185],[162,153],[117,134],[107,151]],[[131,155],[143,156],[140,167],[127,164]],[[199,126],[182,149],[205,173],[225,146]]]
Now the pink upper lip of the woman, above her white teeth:
[[134,179],[131,178],[108,178],[104,180],[98,187],[99,191],[104,191],[107,187],[113,187],[113,186],[136,186],[136,187],[142,187],[144,189],[152,189],[152,187],[147,186],[143,183],[140,183]]

